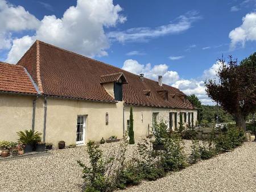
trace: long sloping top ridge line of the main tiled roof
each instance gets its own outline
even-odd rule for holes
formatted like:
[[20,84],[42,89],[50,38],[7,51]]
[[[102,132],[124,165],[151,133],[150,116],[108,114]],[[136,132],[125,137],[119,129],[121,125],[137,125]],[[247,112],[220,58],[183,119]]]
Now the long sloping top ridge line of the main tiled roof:
[[[138,74],[131,73],[131,72],[127,71],[127,70],[124,70],[124,69],[118,68],[117,66],[110,65],[110,64],[106,64],[105,62],[98,61],[98,60],[92,59],[92,58],[90,58],[90,57],[86,57],[86,56],[81,55],[81,54],[79,54],[79,53],[75,53],[75,52],[72,52],[72,51],[68,51],[68,50],[66,50],[66,49],[63,49],[63,48],[57,47],[57,46],[52,45],[52,44],[49,44],[49,43],[45,43],[45,42],[40,41],[40,40],[36,40],[36,41],[38,41],[39,43],[43,43],[43,44],[45,44],[45,45],[48,45],[48,46],[50,46],[50,47],[53,47],[53,48],[59,49],[59,50],[61,50],[61,51],[65,51],[65,52],[68,52],[68,53],[75,54],[75,55],[80,56],[80,57],[83,57],[83,58],[85,58],[85,59],[89,59],[89,60],[92,60],[92,61],[100,62],[101,64],[111,66],[111,67],[113,67],[113,68],[115,68],[115,69],[119,69],[119,70],[125,71],[125,72],[127,72],[127,73],[133,74],[134,76],[139,77],[139,75],[138,75]],[[151,80],[150,78],[147,78],[147,77],[144,77],[144,79],[146,79],[146,80],[148,80],[148,81],[153,81],[153,82],[156,82],[156,83],[158,82],[158,81]],[[166,85],[166,86],[172,87],[172,88],[176,89],[177,91],[179,91],[179,89],[177,89],[176,87],[173,87],[173,86],[171,86],[171,85],[167,85],[167,84],[163,84],[163,85]]]

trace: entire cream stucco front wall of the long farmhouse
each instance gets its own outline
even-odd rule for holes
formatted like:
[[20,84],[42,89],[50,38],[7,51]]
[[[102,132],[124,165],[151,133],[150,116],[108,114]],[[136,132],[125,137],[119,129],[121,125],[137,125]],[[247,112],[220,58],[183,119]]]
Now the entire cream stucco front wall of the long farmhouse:
[[[34,99],[35,97],[32,96],[0,94],[0,140],[16,141],[17,131],[31,129]],[[112,135],[122,138],[123,102],[100,103],[59,98],[48,98],[47,102],[46,142],[52,142],[55,146],[60,140],[64,140],[67,145],[75,144],[78,115],[86,117],[85,143],[89,140],[100,141],[102,137],[108,139]],[[180,111],[194,112],[194,124],[196,124],[196,110],[133,106],[135,137],[147,136],[148,128],[152,130],[152,112],[158,112],[158,121],[163,119],[168,124],[169,112]],[[106,112],[109,116],[108,125],[106,125]],[[127,130],[129,116],[130,106],[126,105],[125,130]],[[179,122],[179,116],[177,122]],[[43,133],[43,127],[44,99],[38,98],[35,131]]]

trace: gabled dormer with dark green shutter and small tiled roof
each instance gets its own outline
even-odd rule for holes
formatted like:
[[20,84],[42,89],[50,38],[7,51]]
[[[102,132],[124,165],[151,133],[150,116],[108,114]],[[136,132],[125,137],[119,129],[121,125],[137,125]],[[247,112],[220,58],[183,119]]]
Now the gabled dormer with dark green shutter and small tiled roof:
[[105,74],[104,76],[101,76],[100,84],[116,101],[123,100],[122,85],[127,84],[127,80],[122,72]]

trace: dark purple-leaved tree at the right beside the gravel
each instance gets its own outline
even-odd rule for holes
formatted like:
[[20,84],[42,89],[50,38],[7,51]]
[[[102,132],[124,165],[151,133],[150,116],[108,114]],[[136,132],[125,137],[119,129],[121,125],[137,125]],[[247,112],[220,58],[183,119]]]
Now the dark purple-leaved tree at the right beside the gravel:
[[246,116],[256,111],[255,61],[255,53],[240,65],[232,56],[228,62],[220,59],[221,65],[216,72],[219,80],[205,81],[208,96],[232,114],[237,127],[244,131]]

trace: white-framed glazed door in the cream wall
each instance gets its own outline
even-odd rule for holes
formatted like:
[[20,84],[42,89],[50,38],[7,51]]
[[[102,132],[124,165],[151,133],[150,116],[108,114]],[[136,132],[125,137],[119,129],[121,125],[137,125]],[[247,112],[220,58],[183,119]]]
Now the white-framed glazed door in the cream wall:
[[77,116],[76,145],[84,145],[85,143],[85,120],[85,116]]

